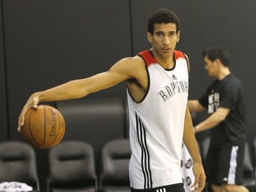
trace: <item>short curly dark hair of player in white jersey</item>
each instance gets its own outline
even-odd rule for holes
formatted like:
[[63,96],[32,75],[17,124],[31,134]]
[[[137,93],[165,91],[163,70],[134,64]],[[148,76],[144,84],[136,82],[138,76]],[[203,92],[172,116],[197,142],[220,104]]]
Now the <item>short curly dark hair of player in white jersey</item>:
[[178,16],[168,9],[162,8],[156,10],[148,19],[148,32],[154,33],[155,23],[174,23],[176,25],[176,32],[180,31],[180,19]]

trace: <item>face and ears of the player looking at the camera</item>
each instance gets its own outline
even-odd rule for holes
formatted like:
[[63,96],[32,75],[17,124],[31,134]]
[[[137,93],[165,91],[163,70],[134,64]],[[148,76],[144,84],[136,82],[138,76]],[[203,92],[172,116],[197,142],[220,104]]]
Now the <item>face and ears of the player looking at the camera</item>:
[[148,33],[148,41],[156,53],[162,57],[170,57],[180,38],[180,31],[176,32],[175,23],[161,23],[154,25],[154,34]]

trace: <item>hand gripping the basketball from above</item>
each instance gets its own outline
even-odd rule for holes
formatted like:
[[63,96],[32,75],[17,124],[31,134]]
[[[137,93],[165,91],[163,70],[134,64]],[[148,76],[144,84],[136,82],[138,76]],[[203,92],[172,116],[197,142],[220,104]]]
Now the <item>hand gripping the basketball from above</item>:
[[19,119],[18,119],[18,132],[21,132],[21,127],[24,124],[24,119],[26,116],[26,113],[30,108],[37,108],[37,104],[39,103],[39,97],[36,94],[32,94],[25,106],[22,108]]

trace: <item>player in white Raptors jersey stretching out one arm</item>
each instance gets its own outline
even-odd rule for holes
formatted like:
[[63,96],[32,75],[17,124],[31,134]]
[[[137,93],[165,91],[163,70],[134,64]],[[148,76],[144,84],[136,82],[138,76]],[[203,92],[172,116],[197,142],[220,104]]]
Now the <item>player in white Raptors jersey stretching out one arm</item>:
[[127,83],[132,156],[132,192],[184,192],[180,174],[182,140],[194,162],[194,191],[204,189],[205,175],[196,145],[188,101],[188,58],[175,49],[180,20],[160,9],[148,20],[152,48],[116,62],[107,72],[70,81],[30,96],[21,111],[41,101],[83,98],[92,92]]

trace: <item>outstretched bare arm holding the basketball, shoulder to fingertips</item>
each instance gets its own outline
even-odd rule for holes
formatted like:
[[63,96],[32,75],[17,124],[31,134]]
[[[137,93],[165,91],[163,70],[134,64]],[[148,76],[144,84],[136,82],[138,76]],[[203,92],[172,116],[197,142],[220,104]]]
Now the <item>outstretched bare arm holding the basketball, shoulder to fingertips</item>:
[[114,64],[108,71],[84,79],[69,81],[65,84],[52,87],[43,92],[33,93],[25,106],[22,108],[19,117],[19,127],[24,124],[24,117],[29,108],[37,108],[37,104],[43,101],[72,100],[83,98],[92,92],[108,89],[131,78],[140,82],[140,71],[144,69],[143,60],[138,57],[124,58]]

